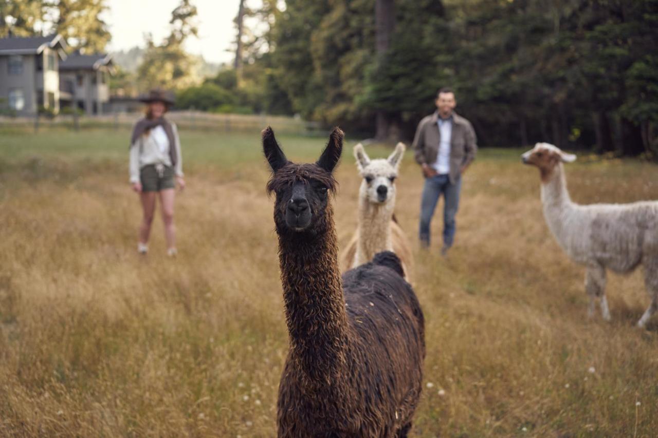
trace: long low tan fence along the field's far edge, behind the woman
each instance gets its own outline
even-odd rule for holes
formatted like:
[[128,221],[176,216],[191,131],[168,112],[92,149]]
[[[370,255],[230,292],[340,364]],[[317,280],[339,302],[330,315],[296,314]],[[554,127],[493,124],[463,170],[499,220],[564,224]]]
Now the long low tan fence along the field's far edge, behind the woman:
[[[34,129],[64,128],[82,130],[91,128],[122,129],[132,127],[142,116],[139,112],[116,112],[100,116],[59,114],[47,116],[0,116],[0,127]],[[186,130],[216,130],[221,132],[253,132],[272,126],[277,133],[297,135],[325,135],[326,130],[317,122],[297,117],[270,116],[266,114],[211,114],[200,111],[172,111],[167,114],[178,128]]]

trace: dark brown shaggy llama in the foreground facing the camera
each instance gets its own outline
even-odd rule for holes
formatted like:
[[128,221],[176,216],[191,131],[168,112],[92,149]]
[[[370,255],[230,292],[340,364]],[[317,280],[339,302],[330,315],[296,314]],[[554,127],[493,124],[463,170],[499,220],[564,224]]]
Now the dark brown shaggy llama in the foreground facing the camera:
[[422,310],[393,253],[340,276],[330,195],[342,147],[335,128],[317,162],[295,164],[263,131],[290,339],[278,436],[406,437],[422,387]]

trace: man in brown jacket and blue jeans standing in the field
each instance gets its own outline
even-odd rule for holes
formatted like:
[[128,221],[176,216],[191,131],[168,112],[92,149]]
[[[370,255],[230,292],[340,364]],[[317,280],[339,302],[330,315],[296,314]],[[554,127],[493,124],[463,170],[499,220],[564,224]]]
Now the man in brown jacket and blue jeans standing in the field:
[[443,247],[446,255],[455,240],[455,214],[459,206],[461,174],[475,159],[478,150],[473,127],[454,111],[457,101],[449,88],[439,90],[436,112],[418,124],[413,140],[416,162],[422,168],[425,185],[420,203],[420,243],[430,246],[430,222],[443,193]]

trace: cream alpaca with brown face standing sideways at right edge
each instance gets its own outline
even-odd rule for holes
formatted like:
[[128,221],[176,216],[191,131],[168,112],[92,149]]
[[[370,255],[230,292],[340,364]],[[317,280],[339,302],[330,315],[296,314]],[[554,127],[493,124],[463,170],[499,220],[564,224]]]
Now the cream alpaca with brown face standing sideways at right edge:
[[638,321],[638,326],[644,327],[658,308],[658,202],[574,204],[562,163],[575,159],[575,155],[548,143],[537,143],[522,155],[525,164],[540,169],[544,217],[555,239],[574,262],[587,266],[585,289],[590,296],[590,317],[599,298],[603,318],[610,320],[605,298],[606,268],[626,273],[642,264],[651,296],[649,308]]

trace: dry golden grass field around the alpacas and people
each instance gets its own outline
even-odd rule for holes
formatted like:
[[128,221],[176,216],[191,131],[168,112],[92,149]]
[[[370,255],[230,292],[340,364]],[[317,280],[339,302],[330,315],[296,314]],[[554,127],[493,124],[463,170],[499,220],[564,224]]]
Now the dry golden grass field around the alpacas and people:
[[[274,436],[288,339],[259,133],[182,132],[175,260],[159,218],[151,253],[136,253],[128,134],[0,132],[0,436]],[[323,143],[280,140],[294,160]],[[343,246],[355,140],[337,173]],[[432,251],[418,247],[422,180],[403,162],[397,217],[428,349],[413,434],[655,437],[658,317],[634,328],[642,272],[611,275],[613,322],[588,320],[584,269],[549,234],[520,152],[483,150],[468,170],[448,258],[442,220]],[[567,178],[577,202],[627,202],[658,199],[657,170],[580,157]]]

